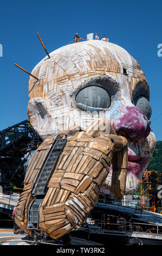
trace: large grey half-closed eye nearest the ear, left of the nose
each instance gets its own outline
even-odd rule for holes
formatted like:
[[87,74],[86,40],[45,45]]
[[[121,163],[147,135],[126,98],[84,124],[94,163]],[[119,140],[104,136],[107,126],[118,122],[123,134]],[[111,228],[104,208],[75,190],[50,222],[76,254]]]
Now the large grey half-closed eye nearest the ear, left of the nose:
[[107,90],[99,86],[88,86],[80,90],[76,95],[77,106],[85,110],[85,107],[108,108],[111,98]]

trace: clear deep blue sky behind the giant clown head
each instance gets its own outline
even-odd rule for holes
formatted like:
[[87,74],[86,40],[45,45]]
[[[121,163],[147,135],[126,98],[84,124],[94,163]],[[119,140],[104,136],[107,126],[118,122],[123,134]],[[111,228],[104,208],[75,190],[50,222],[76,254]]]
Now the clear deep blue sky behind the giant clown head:
[[162,141],[162,57],[157,54],[162,44],[161,21],[161,1],[1,0],[0,130],[28,118],[29,76],[14,63],[31,72],[46,56],[36,33],[51,52],[69,44],[76,32],[85,39],[88,33],[98,32],[139,62],[150,85],[151,128]]

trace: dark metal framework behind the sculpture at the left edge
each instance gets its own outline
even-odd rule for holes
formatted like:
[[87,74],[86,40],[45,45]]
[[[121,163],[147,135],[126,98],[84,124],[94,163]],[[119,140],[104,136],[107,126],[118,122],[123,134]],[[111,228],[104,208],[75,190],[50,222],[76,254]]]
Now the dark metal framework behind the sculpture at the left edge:
[[42,139],[28,120],[0,131],[0,184],[3,188],[23,187],[24,164]]

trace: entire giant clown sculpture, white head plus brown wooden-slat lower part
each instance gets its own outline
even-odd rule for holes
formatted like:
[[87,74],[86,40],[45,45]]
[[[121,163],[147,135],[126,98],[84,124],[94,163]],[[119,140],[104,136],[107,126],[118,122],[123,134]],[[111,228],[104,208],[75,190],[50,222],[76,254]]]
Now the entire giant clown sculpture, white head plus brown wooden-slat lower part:
[[56,239],[81,227],[101,186],[116,197],[137,190],[155,147],[149,87],[124,49],[99,40],[59,48],[33,75],[28,115],[44,141],[29,161],[15,221]]

